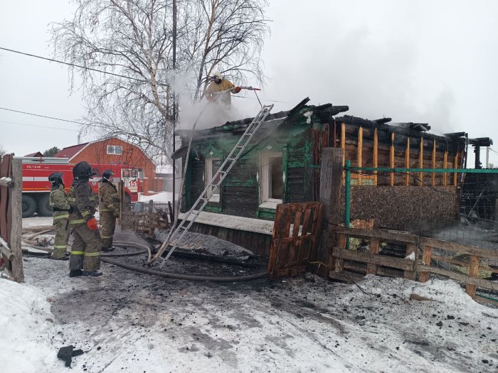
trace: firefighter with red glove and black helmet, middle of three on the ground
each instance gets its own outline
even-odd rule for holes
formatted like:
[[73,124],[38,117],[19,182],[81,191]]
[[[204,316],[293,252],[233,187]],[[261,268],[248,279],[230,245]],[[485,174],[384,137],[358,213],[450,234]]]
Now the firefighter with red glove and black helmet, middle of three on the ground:
[[69,224],[73,228],[69,276],[101,276],[102,272],[98,270],[102,244],[94,216],[97,196],[88,183],[95,174],[87,162],[80,162],[74,166],[73,175],[68,196],[69,204],[73,207],[73,212],[69,215]]

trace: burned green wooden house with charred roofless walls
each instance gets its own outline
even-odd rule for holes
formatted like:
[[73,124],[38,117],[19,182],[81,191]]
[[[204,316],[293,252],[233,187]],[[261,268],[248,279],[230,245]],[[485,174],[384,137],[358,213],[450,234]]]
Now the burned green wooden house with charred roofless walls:
[[[352,166],[465,166],[463,132],[438,136],[429,133],[428,124],[370,121],[342,114],[349,109],[346,106],[307,102],[267,117],[197,218],[194,231],[267,254],[277,204],[319,200],[322,148],[344,149],[343,164],[348,159]],[[251,120],[194,132],[182,211],[201,195]],[[176,134],[186,144],[191,131]],[[457,216],[457,174],[364,172],[351,177],[352,220],[369,219],[375,227],[416,232],[427,222],[444,224]]]

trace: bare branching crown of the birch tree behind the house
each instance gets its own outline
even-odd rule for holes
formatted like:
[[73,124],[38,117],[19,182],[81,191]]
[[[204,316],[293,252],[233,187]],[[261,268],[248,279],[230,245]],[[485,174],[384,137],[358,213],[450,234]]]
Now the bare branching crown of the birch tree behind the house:
[[[264,0],[177,0],[176,74],[172,0],[73,3],[73,19],[53,24],[51,43],[55,57],[85,67],[70,67],[72,89],[83,90],[87,106],[83,134],[120,136],[149,156],[166,154],[174,89],[200,99],[215,70],[236,82],[263,80],[260,51],[269,31]],[[178,80],[174,85],[178,74],[182,87]]]

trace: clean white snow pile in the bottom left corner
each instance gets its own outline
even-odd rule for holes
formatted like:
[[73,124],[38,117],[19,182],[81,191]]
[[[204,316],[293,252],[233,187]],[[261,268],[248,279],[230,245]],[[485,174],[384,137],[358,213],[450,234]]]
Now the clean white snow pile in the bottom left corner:
[[53,346],[50,303],[32,286],[0,280],[0,351],[4,372],[62,372]]

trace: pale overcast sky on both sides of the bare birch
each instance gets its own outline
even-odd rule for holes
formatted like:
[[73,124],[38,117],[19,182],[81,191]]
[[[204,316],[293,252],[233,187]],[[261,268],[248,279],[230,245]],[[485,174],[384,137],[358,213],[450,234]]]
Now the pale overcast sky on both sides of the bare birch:
[[[48,23],[70,18],[73,6],[3,1],[0,10],[1,47],[50,57]],[[267,16],[272,35],[261,95],[284,102],[274,111],[310,97],[312,104],[349,105],[347,114],[359,117],[420,121],[433,132],[498,141],[498,1],[278,0]],[[0,50],[0,107],[78,120],[83,102],[69,83],[62,65]],[[234,104],[258,109],[254,99]],[[0,110],[0,146],[16,155],[76,144],[77,130]],[[498,163],[496,153],[490,161]]]

